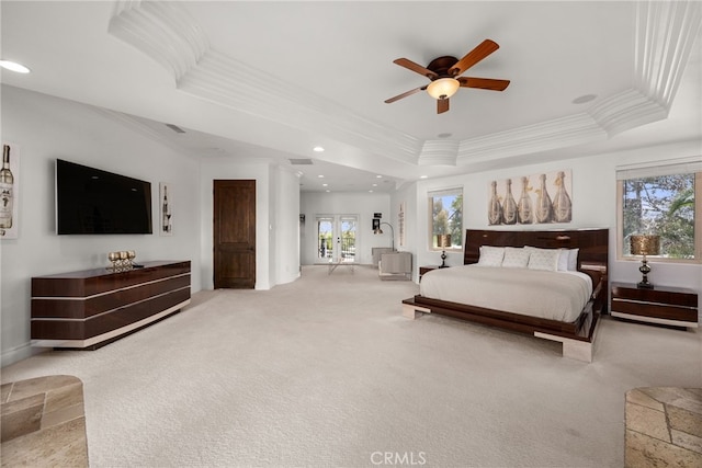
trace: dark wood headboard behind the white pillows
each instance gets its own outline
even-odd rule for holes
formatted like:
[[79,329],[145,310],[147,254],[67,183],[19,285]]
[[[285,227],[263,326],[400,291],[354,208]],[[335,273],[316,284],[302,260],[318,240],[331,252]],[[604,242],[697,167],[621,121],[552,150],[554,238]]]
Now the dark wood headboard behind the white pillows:
[[580,249],[578,270],[599,272],[607,277],[609,229],[575,229],[551,231],[466,229],[463,263],[477,263],[480,246],[524,247],[543,249]]

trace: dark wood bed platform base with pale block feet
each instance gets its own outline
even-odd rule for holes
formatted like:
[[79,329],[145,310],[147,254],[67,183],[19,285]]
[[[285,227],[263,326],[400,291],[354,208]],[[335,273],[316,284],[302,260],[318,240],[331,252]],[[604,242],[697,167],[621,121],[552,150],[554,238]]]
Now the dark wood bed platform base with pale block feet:
[[[423,305],[417,304],[415,301],[415,297],[410,297],[409,299],[403,300],[403,317],[407,319],[415,320],[418,317],[418,313],[431,313],[431,312],[432,310],[430,307],[426,307]],[[557,341],[563,343],[564,357],[568,357],[576,361],[582,361],[586,363],[592,362],[592,355],[595,353],[595,336],[599,328],[599,320],[598,320],[599,313],[591,315],[590,316],[591,319],[582,323],[581,328],[584,329],[584,331],[587,330],[589,332],[588,333],[589,335],[588,336],[580,335],[575,338],[548,333],[541,330],[528,329],[525,328],[526,326],[523,326],[523,324],[520,324],[519,327],[517,327],[517,323],[495,321],[494,319],[488,317],[479,317],[479,316],[465,317],[465,315],[462,315],[458,317],[453,313],[446,313],[446,310],[438,311],[438,313],[446,315],[450,317],[457,317],[461,319],[465,319],[467,321],[474,321],[477,323],[488,324],[488,326],[503,328],[508,330],[517,330],[522,333],[533,334],[534,336],[541,338],[544,340]]]

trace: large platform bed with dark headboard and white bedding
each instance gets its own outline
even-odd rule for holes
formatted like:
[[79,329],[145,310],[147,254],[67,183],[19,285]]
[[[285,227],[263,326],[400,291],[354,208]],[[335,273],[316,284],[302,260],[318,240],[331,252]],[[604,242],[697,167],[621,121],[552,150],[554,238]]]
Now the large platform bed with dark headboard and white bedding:
[[[509,252],[509,262],[500,260],[505,265],[490,260],[499,250]],[[520,263],[528,250],[548,265],[558,256],[555,271]],[[566,357],[591,362],[598,319],[607,311],[608,252],[608,229],[467,229],[464,266],[426,273],[420,294],[403,300],[403,315],[439,313],[529,333],[563,343]],[[546,285],[547,293],[539,293],[537,285]]]

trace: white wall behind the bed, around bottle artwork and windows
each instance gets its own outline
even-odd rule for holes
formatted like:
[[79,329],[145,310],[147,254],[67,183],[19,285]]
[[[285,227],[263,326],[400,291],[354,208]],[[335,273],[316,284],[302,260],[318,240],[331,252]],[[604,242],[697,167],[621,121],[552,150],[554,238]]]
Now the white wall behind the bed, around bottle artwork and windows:
[[[437,264],[438,254],[429,250],[427,193],[435,189],[463,186],[464,193],[464,229],[487,229],[488,189],[492,180],[516,179],[539,172],[551,172],[561,169],[573,171],[573,221],[569,224],[534,225],[532,229],[610,229],[610,281],[638,282],[639,261],[616,260],[616,168],[621,165],[660,162],[679,158],[700,158],[700,141],[689,141],[657,147],[642,148],[632,151],[599,155],[595,157],[562,160],[542,164],[529,164],[499,171],[487,171],[452,178],[420,181],[416,192],[416,269],[419,265]],[[528,159],[528,158],[526,158]],[[393,206],[407,201],[409,193],[397,193],[393,196]],[[495,227],[499,229],[498,227]],[[463,263],[463,252],[448,252],[446,263]],[[702,265],[684,263],[649,262],[653,272],[649,279],[654,284],[680,286],[695,289],[702,306]],[[417,273],[417,272],[415,272]]]

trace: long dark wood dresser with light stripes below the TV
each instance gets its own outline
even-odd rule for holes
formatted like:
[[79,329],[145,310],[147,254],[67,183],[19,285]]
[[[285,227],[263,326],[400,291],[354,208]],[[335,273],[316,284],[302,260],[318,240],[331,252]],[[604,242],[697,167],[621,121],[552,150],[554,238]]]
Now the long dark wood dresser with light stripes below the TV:
[[190,303],[190,261],[32,278],[32,345],[97,349]]

